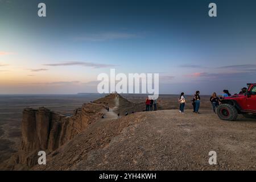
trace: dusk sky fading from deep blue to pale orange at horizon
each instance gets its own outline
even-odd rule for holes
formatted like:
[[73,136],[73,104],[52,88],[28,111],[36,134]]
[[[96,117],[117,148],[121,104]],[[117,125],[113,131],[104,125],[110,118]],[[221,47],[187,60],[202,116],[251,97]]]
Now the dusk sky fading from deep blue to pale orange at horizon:
[[[211,2],[217,17],[208,15]],[[255,6],[0,0],[0,94],[97,92],[97,76],[110,69],[159,73],[160,94],[238,93],[256,82]]]

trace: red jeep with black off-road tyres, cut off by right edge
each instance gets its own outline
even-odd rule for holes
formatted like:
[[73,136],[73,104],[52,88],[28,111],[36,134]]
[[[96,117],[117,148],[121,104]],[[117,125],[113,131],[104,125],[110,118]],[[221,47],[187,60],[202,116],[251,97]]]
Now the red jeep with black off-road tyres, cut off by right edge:
[[238,114],[246,118],[256,118],[256,84],[247,84],[245,94],[235,94],[220,100],[217,107],[218,117],[223,120],[234,121]]

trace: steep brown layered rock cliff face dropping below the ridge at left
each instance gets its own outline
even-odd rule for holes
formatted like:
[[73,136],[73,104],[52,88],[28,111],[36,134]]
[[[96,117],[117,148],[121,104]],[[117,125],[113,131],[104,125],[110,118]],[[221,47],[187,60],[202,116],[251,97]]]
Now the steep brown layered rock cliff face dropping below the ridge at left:
[[72,117],[57,114],[45,107],[26,108],[22,118],[22,143],[9,168],[28,169],[38,160],[38,151],[52,152],[75,137],[90,123],[102,117],[104,105],[84,104]]

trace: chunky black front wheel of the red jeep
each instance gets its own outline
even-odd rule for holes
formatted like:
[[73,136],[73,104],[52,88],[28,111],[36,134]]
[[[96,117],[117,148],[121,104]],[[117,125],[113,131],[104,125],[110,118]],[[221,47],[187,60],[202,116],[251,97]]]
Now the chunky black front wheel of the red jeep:
[[217,107],[217,114],[220,119],[235,121],[237,119],[237,110],[230,104],[221,104]]

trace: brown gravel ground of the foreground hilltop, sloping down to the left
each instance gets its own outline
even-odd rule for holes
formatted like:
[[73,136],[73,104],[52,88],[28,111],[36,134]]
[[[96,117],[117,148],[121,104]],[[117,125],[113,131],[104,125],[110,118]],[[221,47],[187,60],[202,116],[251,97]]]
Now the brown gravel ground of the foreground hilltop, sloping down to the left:
[[[93,123],[34,170],[255,170],[256,121],[160,110]],[[209,151],[217,164],[210,165]]]

